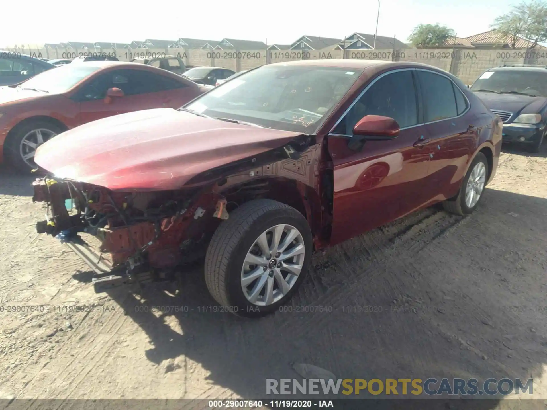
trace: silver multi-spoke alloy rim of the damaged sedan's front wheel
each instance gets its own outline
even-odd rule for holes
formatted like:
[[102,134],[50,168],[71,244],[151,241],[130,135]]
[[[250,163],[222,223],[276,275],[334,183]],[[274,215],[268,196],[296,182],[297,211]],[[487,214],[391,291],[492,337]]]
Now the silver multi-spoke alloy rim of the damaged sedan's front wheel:
[[241,289],[247,300],[257,306],[281,300],[298,280],[305,253],[304,238],[292,225],[272,226],[261,233],[241,268]]

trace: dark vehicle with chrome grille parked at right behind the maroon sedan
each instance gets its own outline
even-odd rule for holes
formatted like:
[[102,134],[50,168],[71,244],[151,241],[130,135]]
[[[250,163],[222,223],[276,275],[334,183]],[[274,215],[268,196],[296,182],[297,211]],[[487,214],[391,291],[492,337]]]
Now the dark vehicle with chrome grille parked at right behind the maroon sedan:
[[537,153],[547,133],[547,67],[515,65],[482,73],[470,90],[503,120],[503,142]]

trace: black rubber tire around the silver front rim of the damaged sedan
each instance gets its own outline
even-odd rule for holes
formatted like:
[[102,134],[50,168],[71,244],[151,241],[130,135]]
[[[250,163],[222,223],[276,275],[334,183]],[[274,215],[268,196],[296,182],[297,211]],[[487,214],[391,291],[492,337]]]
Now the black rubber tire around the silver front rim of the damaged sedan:
[[[300,231],[305,255],[302,270],[293,287],[281,300],[257,306],[247,300],[241,288],[241,269],[249,248],[257,238],[278,224]],[[298,210],[273,200],[254,200],[236,208],[214,232],[205,256],[205,282],[214,300],[227,311],[243,317],[260,317],[275,312],[302,283],[310,265],[312,235],[306,218]]]

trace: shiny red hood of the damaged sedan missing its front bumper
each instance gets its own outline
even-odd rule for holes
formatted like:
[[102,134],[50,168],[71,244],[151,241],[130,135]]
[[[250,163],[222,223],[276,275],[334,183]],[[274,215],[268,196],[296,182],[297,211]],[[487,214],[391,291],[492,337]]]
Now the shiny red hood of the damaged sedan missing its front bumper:
[[201,172],[282,147],[299,135],[159,108],[63,132],[40,146],[34,161],[57,177],[112,190],[171,190]]

